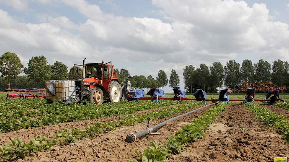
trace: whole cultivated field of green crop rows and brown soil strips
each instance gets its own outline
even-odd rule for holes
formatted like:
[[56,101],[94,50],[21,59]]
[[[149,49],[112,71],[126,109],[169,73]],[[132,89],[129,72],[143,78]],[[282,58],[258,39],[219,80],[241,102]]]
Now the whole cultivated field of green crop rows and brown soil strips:
[[[243,95],[230,98],[243,99]],[[147,117],[154,126],[203,103],[161,100],[67,106],[46,105],[41,99],[0,100],[0,153],[9,147],[21,148],[8,151],[10,158],[18,161],[135,162],[149,161],[157,154],[165,161],[273,161],[274,157],[289,155],[288,103],[213,105],[168,123],[157,130],[160,135],[126,143],[126,135],[146,129]],[[33,140],[35,136],[38,138]],[[46,138],[40,140],[40,136]],[[15,146],[5,147],[10,139],[17,139]],[[20,146],[21,142],[25,145]]]

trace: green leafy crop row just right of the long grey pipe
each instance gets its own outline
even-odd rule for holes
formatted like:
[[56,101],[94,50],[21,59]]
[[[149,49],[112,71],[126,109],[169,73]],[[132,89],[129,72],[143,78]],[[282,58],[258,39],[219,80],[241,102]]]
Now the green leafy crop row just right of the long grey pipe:
[[[190,124],[183,126],[175,135],[169,136],[164,146],[158,146],[158,143],[153,141],[151,146],[142,153],[139,161],[161,162],[168,159],[170,154],[179,154],[184,150],[184,145],[204,137],[204,131],[209,129],[209,124],[225,110],[226,105],[225,103],[219,103],[201,117],[192,120]],[[131,160],[130,162],[137,162],[137,160]]]

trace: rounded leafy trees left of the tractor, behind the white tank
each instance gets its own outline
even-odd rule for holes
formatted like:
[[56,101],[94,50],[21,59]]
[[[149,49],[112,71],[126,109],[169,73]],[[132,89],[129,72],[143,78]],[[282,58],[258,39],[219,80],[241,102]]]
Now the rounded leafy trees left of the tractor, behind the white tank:
[[[31,88],[44,87],[46,80],[65,80],[68,76],[67,66],[56,61],[48,65],[44,56],[32,57],[28,66],[23,68],[20,58],[15,53],[6,52],[0,57],[1,85],[10,82],[13,87]],[[24,72],[27,76],[18,76]],[[3,87],[1,87],[3,89]]]

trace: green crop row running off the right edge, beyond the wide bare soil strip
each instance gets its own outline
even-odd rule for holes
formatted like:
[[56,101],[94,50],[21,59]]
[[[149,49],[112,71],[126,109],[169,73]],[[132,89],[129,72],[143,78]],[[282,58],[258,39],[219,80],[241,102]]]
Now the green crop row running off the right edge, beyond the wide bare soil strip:
[[289,141],[289,120],[287,118],[254,103],[249,103],[246,107],[254,113],[258,120],[269,127],[278,129],[279,134],[281,134],[285,140]]

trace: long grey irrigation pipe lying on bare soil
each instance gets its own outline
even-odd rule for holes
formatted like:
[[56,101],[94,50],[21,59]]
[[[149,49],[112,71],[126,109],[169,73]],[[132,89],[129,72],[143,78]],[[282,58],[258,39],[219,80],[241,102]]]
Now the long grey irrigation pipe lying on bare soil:
[[138,133],[136,133],[136,134],[131,133],[131,134],[129,134],[129,135],[126,136],[125,141],[128,142],[128,143],[131,143],[131,142],[135,141],[137,138],[140,138],[140,137],[142,137],[142,136],[144,136],[144,135],[147,135],[147,134],[149,134],[149,133],[152,133],[154,130],[159,129],[160,127],[164,126],[165,124],[167,124],[167,123],[169,123],[169,122],[171,122],[171,121],[173,121],[173,120],[176,120],[176,119],[178,119],[178,118],[184,117],[184,116],[186,116],[186,115],[189,115],[189,114],[191,114],[191,113],[194,113],[195,111],[201,110],[202,108],[206,108],[206,107],[208,107],[208,106],[215,105],[215,104],[217,104],[217,103],[212,103],[212,104],[209,104],[209,105],[205,105],[205,106],[203,106],[203,107],[201,107],[201,108],[197,108],[197,109],[192,110],[192,111],[190,111],[190,112],[188,112],[188,113],[184,113],[184,114],[182,114],[182,115],[179,115],[179,116],[176,116],[176,117],[171,118],[171,119],[169,119],[169,120],[166,120],[166,121],[164,121],[164,122],[162,122],[162,123],[159,123],[158,125],[155,125],[155,126],[153,126],[153,127],[149,127],[149,128],[147,128],[146,130],[143,130],[143,131],[138,132]]

